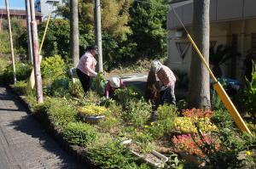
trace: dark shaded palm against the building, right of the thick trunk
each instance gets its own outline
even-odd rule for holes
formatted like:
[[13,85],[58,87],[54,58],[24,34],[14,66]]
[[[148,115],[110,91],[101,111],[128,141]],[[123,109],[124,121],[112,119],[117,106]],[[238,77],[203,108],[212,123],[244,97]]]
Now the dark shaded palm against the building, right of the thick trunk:
[[210,48],[210,64],[213,65],[212,72],[215,76],[221,77],[223,75],[220,65],[224,64],[232,57],[240,54],[231,46],[218,45],[216,50],[214,47]]

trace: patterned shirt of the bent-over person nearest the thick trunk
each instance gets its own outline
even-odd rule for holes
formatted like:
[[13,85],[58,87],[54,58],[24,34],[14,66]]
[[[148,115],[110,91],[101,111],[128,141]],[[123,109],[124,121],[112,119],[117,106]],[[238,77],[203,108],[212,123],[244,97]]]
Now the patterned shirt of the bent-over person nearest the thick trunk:
[[165,87],[171,87],[176,82],[176,77],[174,76],[172,70],[166,65],[162,65],[156,75]]

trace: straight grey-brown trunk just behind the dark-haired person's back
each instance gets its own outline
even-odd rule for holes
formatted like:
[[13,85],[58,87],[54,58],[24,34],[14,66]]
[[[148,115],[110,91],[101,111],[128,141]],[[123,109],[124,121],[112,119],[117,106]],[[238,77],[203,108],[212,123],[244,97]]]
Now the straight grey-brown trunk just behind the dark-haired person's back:
[[71,20],[70,20],[70,55],[73,58],[73,66],[79,64],[79,2],[78,0],[70,1]]

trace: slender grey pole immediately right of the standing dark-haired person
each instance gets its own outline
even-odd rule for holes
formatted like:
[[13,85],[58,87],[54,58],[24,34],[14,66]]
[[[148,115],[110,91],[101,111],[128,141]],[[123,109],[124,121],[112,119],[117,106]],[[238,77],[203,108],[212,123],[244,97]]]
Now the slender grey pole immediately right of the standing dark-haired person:
[[95,34],[96,34],[96,45],[98,46],[98,63],[99,72],[103,72],[102,62],[102,23],[101,23],[101,2],[100,0],[94,0],[94,22],[95,22]]

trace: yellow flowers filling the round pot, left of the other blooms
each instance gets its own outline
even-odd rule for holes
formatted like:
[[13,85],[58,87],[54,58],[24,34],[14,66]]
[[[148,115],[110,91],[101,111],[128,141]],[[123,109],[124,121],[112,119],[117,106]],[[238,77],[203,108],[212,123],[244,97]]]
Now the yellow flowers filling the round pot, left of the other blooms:
[[85,105],[79,109],[79,112],[83,115],[103,115],[106,111],[105,107],[97,105]]

